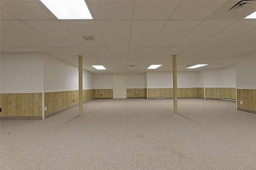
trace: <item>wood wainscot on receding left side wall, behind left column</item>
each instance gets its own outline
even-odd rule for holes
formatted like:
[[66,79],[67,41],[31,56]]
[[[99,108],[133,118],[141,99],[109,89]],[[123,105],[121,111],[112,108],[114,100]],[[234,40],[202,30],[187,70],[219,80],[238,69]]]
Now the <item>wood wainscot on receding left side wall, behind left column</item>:
[[[94,98],[93,90],[83,90],[83,102]],[[63,103],[62,103],[63,102]],[[44,111],[46,118],[51,113],[59,113],[64,109],[77,106],[79,102],[78,90],[66,92],[49,92],[44,93],[44,106],[47,110]]]

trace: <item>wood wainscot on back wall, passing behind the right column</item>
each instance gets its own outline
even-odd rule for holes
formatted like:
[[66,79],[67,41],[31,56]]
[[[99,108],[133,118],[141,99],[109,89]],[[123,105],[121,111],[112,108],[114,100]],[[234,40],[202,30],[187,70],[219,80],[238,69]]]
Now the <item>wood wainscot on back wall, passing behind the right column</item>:
[[[172,88],[149,88],[148,98],[173,98]],[[204,98],[204,88],[178,88],[178,98]]]

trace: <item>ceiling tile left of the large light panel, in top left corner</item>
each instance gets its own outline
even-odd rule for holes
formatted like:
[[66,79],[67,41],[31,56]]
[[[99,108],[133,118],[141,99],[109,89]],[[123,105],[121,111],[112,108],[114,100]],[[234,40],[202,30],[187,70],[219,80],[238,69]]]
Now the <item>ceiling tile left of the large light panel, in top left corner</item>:
[[38,0],[1,0],[1,8],[19,20],[56,20]]

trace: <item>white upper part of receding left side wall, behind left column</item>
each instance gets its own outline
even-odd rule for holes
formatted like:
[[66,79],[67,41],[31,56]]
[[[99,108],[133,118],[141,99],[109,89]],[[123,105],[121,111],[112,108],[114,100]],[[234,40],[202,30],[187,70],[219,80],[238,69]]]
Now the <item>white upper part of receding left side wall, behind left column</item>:
[[[93,88],[93,74],[83,70],[83,89]],[[44,91],[64,90],[78,90],[78,67],[44,54]]]

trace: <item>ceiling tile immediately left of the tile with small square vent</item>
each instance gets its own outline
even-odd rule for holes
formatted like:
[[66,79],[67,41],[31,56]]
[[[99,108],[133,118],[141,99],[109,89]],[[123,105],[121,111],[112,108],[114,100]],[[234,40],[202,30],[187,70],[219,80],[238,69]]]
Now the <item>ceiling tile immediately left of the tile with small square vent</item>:
[[23,20],[22,22],[61,47],[83,47],[58,20]]

